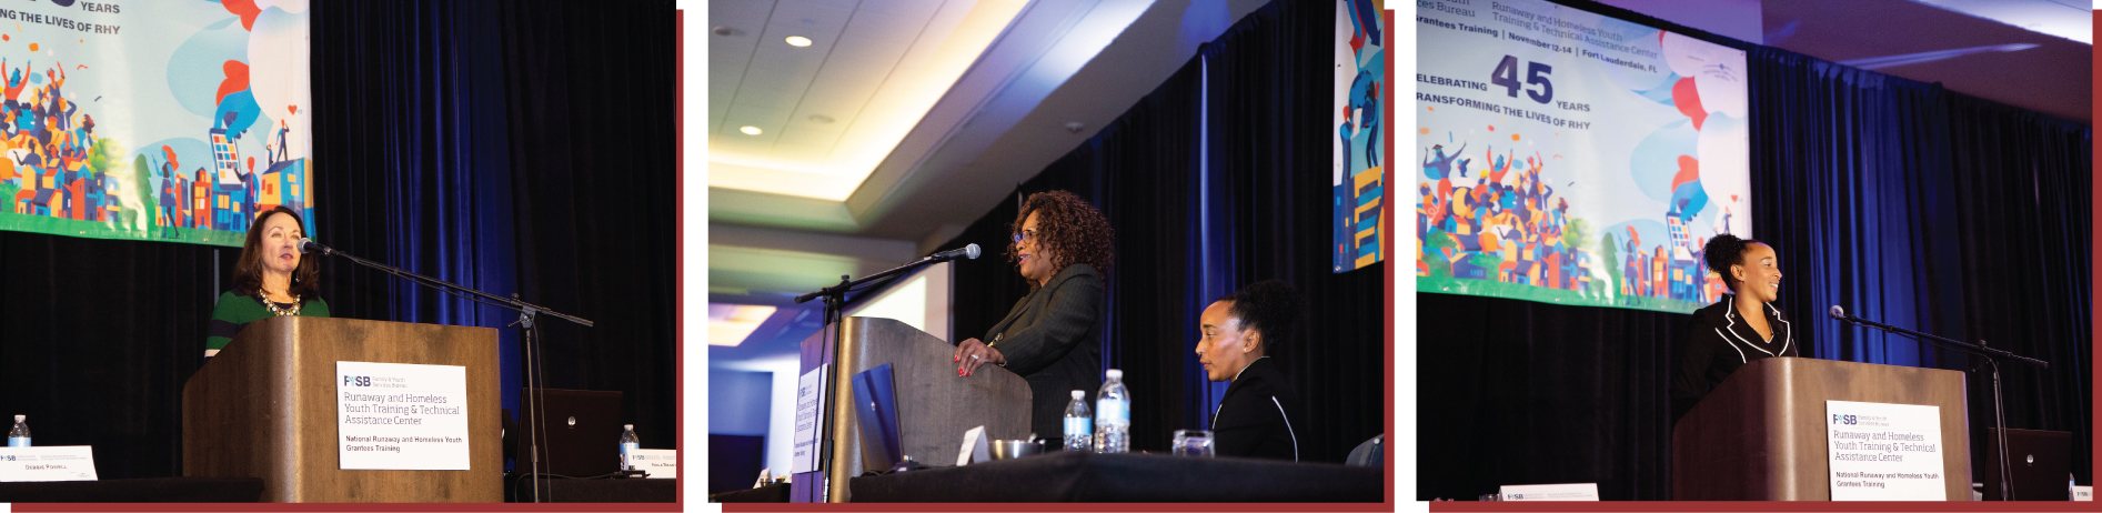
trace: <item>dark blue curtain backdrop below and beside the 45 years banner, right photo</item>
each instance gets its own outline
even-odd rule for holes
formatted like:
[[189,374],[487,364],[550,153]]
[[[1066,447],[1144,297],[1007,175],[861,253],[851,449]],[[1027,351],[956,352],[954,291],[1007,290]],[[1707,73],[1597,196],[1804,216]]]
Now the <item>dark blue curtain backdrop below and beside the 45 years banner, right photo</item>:
[[[1974,465],[1988,374],[1841,328],[1825,307],[2049,360],[2003,368],[2007,425],[2073,431],[2073,473],[2089,484],[2089,126],[1564,4],[1747,48],[1753,231],[1778,252],[1778,305],[1808,324],[1806,357],[1970,372]],[[1671,498],[1667,383],[1688,315],[1425,292],[1417,315],[1417,500],[1566,481],[1595,481],[1606,500]]]

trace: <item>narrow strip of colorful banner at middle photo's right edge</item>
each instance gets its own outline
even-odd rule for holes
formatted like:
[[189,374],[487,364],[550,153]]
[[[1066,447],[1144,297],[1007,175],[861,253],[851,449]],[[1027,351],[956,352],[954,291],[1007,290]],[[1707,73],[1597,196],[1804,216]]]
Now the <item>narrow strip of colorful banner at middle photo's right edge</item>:
[[1387,27],[1373,0],[1335,6],[1335,271],[1385,261],[1387,229]]

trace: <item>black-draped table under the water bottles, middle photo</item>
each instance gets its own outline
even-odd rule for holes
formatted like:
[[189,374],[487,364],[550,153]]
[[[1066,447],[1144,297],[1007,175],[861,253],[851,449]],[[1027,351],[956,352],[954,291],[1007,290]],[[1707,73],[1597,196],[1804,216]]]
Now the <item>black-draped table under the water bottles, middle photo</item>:
[[[1385,502],[1383,467],[1053,452],[849,481],[853,502]],[[708,500],[782,494],[715,494]]]

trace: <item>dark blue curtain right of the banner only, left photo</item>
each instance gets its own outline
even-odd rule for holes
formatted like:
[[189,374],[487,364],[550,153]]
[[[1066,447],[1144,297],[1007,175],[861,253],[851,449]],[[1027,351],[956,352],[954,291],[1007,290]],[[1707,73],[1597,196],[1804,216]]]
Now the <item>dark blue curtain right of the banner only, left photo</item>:
[[[538,317],[544,385],[622,391],[643,448],[677,439],[671,15],[671,2],[353,0],[317,6],[313,23],[324,242],[597,322]],[[338,315],[498,328],[517,412],[515,311],[351,263],[330,271]]]

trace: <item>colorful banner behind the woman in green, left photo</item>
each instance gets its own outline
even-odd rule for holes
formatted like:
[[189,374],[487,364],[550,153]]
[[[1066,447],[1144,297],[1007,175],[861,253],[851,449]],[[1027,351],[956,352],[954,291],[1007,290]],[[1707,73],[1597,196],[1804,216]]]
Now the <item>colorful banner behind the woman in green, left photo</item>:
[[240,246],[309,219],[305,0],[0,6],[0,229]]

